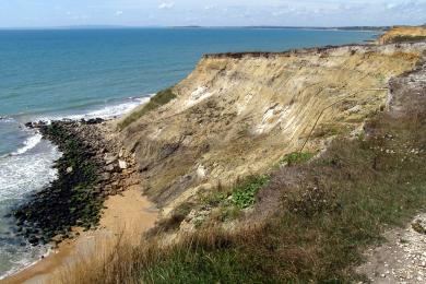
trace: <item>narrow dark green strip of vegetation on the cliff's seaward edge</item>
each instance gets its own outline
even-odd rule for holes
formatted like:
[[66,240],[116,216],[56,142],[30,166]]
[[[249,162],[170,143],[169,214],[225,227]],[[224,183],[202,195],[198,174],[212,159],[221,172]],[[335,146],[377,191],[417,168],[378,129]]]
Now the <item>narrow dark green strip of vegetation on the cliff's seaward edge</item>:
[[146,103],[141,109],[131,113],[121,122],[119,122],[119,130],[123,130],[147,113],[169,103],[174,98],[176,98],[176,94],[173,92],[173,87],[168,87],[158,92],[155,96],[151,97],[150,102]]

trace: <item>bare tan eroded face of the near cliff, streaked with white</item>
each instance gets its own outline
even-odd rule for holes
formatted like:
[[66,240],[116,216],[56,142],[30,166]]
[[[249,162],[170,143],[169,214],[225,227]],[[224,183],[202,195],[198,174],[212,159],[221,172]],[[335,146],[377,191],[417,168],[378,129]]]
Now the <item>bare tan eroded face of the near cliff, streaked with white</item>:
[[315,152],[336,134],[355,135],[386,108],[389,79],[411,70],[425,49],[419,43],[205,56],[173,88],[177,98],[122,130],[122,140],[146,193],[167,213],[200,189],[267,171],[306,141]]

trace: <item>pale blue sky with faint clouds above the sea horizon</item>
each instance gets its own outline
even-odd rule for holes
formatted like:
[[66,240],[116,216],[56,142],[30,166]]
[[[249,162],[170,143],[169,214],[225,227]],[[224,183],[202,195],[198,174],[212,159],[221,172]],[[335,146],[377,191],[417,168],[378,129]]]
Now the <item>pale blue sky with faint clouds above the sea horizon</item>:
[[424,23],[426,0],[0,0],[0,27]]

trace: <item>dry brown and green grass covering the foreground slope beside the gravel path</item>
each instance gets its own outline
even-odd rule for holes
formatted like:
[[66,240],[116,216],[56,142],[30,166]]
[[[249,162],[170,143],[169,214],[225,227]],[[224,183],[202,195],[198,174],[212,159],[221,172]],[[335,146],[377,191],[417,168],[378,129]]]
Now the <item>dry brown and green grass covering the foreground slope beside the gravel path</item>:
[[[232,232],[211,226],[169,246],[157,238],[137,248],[123,245],[110,260],[86,265],[92,272],[80,283],[363,280],[353,269],[363,251],[425,209],[426,153],[413,151],[425,150],[425,126],[426,111],[380,114],[366,125],[368,135],[336,139],[310,163],[303,162],[311,153],[287,155],[287,167],[233,189],[235,205],[255,208]],[[69,276],[67,283],[79,282]]]

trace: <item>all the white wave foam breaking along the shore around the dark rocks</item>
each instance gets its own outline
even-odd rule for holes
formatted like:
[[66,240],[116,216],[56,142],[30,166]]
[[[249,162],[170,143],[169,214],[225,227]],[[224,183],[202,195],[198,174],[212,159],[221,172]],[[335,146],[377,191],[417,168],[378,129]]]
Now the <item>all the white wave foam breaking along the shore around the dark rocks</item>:
[[[29,120],[51,121],[66,118],[73,120],[109,119],[122,116],[149,100],[150,96],[130,98],[125,103],[108,105],[85,113],[82,111],[82,114],[38,116]],[[16,120],[2,118],[0,121],[13,122]],[[52,166],[54,162],[60,156],[61,153],[58,149],[44,141],[40,133],[31,132],[31,135],[23,142],[23,146],[9,155],[0,156],[0,201],[22,200],[28,193],[48,186],[49,182],[57,178],[58,173]],[[13,244],[13,241],[11,244],[10,239],[1,239],[0,242],[0,261],[2,265],[8,268],[7,271],[0,272],[0,280],[37,263],[43,255],[48,253],[48,247],[46,246],[32,247],[27,244],[22,247],[19,244]],[[4,269],[4,267],[2,268]]]

